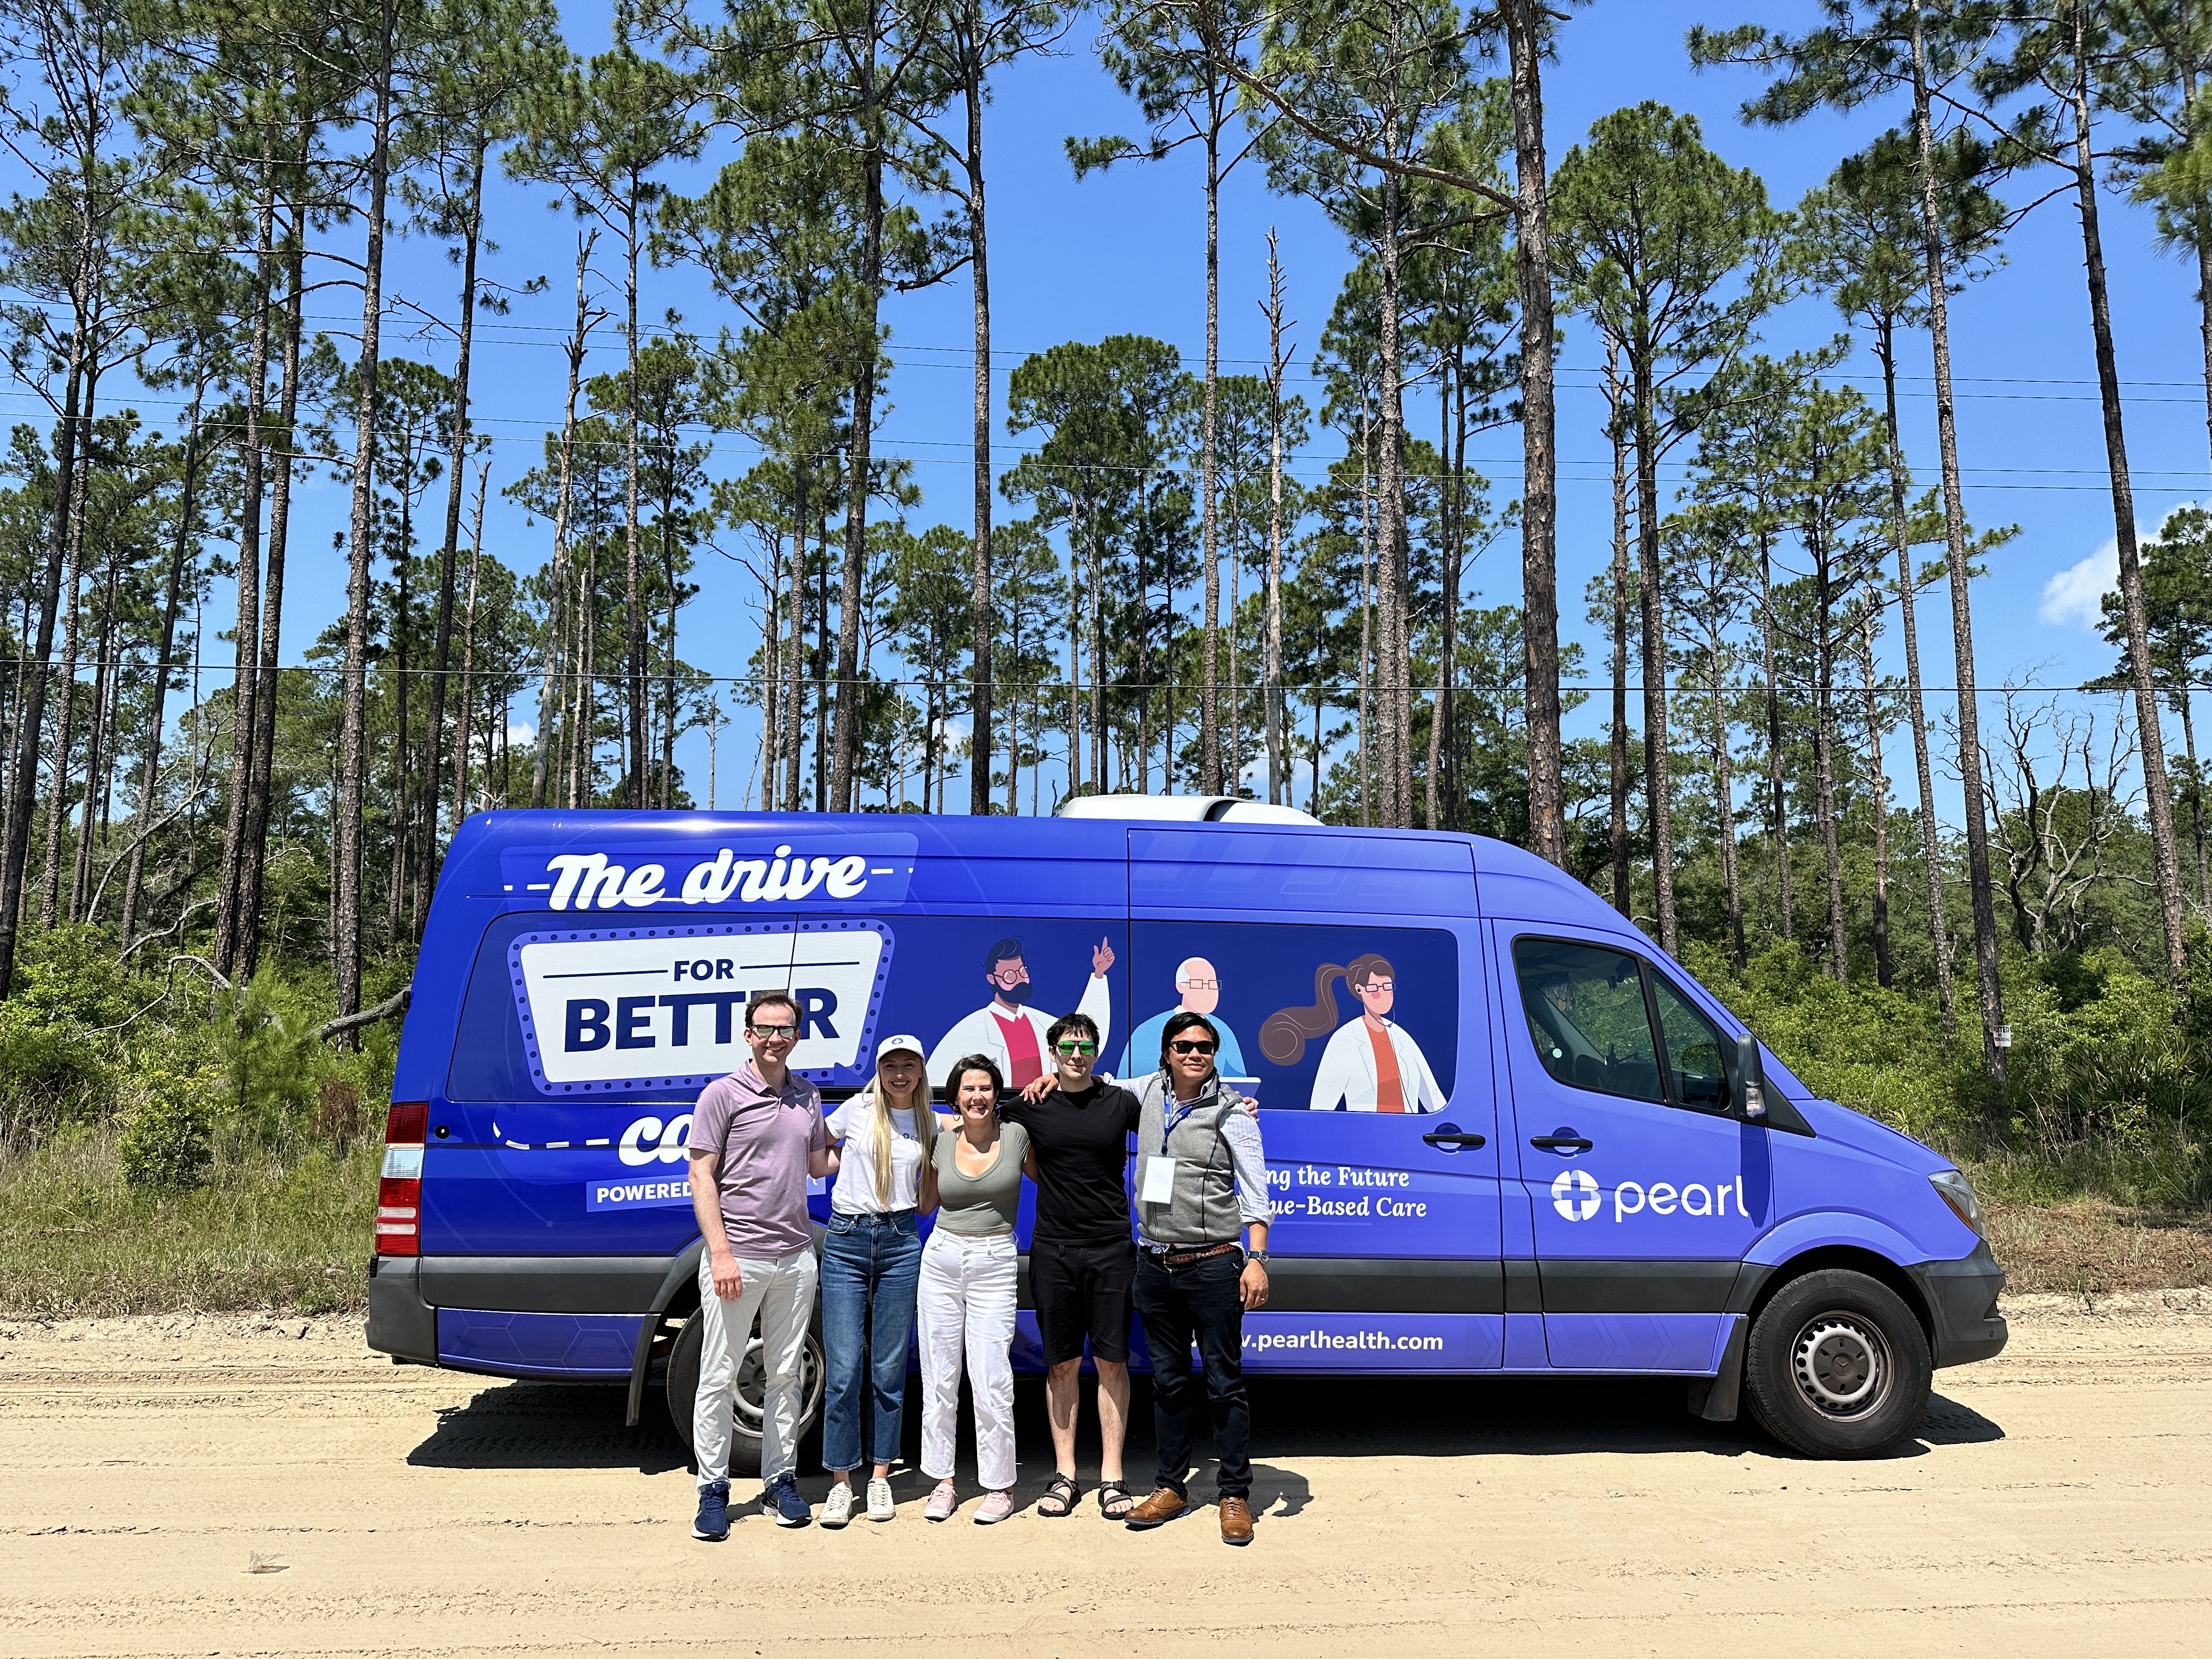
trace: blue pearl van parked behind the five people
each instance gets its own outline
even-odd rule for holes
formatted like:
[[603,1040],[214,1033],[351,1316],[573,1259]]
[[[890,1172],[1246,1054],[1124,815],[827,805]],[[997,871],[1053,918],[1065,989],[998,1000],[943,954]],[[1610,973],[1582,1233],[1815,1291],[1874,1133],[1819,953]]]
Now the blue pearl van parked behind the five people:
[[[1254,1371],[1679,1376],[1703,1418],[1747,1400],[1787,1447],[1856,1458],[1913,1433],[1936,1367],[2004,1347],[1966,1179],[1814,1099],[1559,869],[1254,803],[1073,805],[469,818],[400,1037],[369,1343],[622,1385],[633,1422],[664,1389],[688,1431],[686,1135],[745,1060],[745,998],[794,993],[792,1066],[830,1102],[894,1031],[940,1048],[942,1084],[1013,951],[1040,1009],[1099,1020],[1104,1068],[1150,1071],[1157,1020],[1212,1004],[1274,1190]],[[810,1345],[807,1422],[818,1402]],[[741,1455],[748,1429],[757,1367]]]

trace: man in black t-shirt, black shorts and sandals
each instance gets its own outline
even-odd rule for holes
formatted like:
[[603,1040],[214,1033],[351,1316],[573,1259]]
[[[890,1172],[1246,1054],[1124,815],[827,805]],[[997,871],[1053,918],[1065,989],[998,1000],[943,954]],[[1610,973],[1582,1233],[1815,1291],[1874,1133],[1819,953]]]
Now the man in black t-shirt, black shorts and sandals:
[[1044,1042],[1053,1060],[1051,1091],[1000,1106],[1002,1117],[1029,1130],[1037,1155],[1029,1292],[1044,1343],[1044,1405],[1057,1467],[1037,1513],[1068,1515],[1082,1498],[1075,1482],[1075,1411],[1088,1336],[1091,1363],[1099,1374],[1099,1509],[1106,1520],[1124,1520],[1135,1506],[1121,1480],[1121,1438],[1128,1425],[1128,1327],[1137,1281],[1128,1214],[1128,1137],[1137,1130],[1137,1097],[1091,1075],[1099,1031],[1088,1015],[1055,1020]]

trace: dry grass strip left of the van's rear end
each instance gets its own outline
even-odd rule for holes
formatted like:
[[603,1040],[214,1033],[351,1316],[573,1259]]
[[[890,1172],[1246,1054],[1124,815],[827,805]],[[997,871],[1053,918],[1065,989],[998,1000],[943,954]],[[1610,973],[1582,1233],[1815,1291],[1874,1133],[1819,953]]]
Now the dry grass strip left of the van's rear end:
[[363,1307],[376,1137],[217,1150],[206,1186],[124,1186],[117,1124],[0,1164],[0,1312],[33,1318]]

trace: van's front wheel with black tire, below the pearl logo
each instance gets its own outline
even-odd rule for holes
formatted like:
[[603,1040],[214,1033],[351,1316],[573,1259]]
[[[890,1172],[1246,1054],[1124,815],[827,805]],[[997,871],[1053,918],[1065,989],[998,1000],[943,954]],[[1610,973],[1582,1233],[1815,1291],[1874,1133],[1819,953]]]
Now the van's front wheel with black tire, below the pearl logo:
[[1847,1267],[1792,1279],[1752,1321],[1743,1391],[1807,1458],[1885,1458],[1929,1405],[1929,1338],[1889,1285]]

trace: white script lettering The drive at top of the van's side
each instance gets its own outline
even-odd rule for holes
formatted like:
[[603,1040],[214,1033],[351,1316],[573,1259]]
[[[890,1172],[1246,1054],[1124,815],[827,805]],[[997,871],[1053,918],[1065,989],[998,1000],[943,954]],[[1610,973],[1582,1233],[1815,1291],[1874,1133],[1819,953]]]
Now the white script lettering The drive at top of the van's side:
[[761,905],[898,905],[914,876],[911,834],[792,836],[730,845],[633,841],[515,849],[500,860],[515,898],[562,911],[741,909]]

